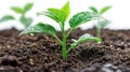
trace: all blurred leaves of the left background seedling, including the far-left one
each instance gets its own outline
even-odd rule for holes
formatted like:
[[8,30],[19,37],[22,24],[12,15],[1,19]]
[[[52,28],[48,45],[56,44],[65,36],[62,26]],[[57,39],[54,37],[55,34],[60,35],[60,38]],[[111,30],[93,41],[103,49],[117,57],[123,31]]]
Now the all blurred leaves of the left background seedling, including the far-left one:
[[[20,17],[20,21],[23,24],[23,26],[26,28],[28,26],[30,26],[30,24],[32,23],[32,18],[30,17],[26,17],[26,13],[28,11],[30,11],[30,9],[32,8],[32,3],[27,3],[23,9],[20,6],[12,6],[11,10],[17,14],[21,14]],[[14,20],[14,16],[13,15],[5,15],[0,19],[0,23],[3,21],[8,21],[8,20]]]

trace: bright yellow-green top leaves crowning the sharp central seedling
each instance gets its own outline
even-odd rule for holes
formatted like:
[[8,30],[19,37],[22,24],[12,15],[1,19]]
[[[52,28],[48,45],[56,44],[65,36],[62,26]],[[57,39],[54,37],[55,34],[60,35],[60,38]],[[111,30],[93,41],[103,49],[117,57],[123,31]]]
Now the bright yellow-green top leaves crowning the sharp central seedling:
[[64,24],[70,13],[69,2],[67,2],[62,9],[48,9],[43,13],[38,13],[38,15],[46,15],[54,19],[58,24]]

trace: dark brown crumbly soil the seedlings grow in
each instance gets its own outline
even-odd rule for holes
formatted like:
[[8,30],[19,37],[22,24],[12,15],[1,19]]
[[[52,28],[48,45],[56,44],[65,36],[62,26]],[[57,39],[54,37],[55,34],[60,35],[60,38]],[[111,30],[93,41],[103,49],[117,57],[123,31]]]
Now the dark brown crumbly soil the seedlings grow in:
[[[44,33],[17,37],[15,29],[0,32],[0,71],[3,72],[130,72],[130,30],[102,32],[103,42],[84,42],[62,59],[62,47]],[[67,40],[94,29],[75,30]],[[57,33],[58,37],[61,32]]]

